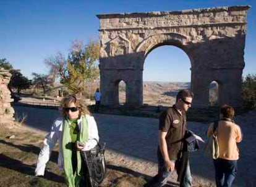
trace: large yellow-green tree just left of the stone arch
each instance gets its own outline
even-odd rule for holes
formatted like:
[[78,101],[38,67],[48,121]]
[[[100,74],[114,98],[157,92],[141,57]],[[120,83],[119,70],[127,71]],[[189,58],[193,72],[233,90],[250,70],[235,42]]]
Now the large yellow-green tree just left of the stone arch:
[[82,41],[74,41],[67,59],[62,54],[45,60],[54,78],[59,78],[71,92],[79,93],[85,90],[86,82],[98,79],[98,60],[100,45],[90,41],[86,46]]

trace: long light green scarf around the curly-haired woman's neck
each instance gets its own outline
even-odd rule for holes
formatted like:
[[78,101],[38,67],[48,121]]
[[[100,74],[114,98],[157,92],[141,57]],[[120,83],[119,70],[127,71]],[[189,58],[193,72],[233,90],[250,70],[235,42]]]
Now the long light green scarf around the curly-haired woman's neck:
[[[86,142],[88,140],[88,123],[86,116],[80,117],[82,124],[80,125],[80,132],[78,140],[80,142]],[[77,151],[77,170],[75,173],[72,168],[72,148],[71,148],[71,137],[70,137],[70,122],[67,117],[64,118],[63,122],[63,135],[62,135],[62,154],[63,154],[63,165],[64,165],[64,177],[69,187],[79,186],[81,177],[81,156],[80,151]],[[74,174],[73,174],[74,173]]]

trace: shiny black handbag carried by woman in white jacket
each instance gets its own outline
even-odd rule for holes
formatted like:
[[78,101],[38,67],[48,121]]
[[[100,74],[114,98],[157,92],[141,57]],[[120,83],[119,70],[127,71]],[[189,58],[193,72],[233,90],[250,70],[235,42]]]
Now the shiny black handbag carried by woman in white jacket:
[[[96,140],[96,139],[95,139]],[[106,143],[97,145],[89,151],[81,151],[88,170],[88,177],[92,187],[98,187],[106,175],[105,147]]]

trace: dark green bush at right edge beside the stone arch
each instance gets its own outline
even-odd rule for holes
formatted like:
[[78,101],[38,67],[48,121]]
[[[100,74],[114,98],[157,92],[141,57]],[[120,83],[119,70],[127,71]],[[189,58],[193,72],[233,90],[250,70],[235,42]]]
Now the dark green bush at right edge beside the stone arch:
[[256,109],[256,74],[248,74],[243,79],[242,100],[246,109]]

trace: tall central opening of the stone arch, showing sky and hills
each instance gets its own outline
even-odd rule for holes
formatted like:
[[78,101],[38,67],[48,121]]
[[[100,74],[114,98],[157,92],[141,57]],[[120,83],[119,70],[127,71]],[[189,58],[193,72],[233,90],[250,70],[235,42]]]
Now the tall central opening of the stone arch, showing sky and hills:
[[184,50],[165,45],[151,50],[143,65],[143,105],[172,106],[177,92],[190,89],[191,63]]

